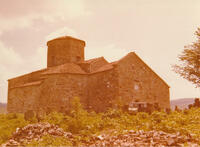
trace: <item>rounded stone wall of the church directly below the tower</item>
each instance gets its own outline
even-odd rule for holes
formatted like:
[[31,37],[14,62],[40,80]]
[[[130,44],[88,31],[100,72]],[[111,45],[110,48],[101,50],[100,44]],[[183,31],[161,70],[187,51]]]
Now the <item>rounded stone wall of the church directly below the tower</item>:
[[87,77],[81,74],[47,75],[41,85],[41,95],[37,100],[43,109],[61,111],[69,109],[70,101],[79,97],[82,103],[87,99]]

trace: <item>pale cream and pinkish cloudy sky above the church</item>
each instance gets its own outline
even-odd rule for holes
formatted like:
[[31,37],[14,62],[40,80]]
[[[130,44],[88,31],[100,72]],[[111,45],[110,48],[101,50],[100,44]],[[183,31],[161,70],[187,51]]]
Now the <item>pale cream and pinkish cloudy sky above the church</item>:
[[86,59],[134,51],[168,83],[171,99],[200,97],[171,67],[198,27],[199,0],[0,0],[0,102],[7,80],[45,68],[46,42],[65,35],[86,41]]

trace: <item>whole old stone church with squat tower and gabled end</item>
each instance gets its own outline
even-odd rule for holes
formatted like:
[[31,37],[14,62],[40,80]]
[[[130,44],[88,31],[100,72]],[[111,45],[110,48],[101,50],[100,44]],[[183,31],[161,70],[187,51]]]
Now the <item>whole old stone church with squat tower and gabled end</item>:
[[170,107],[169,86],[134,52],[109,63],[104,57],[85,60],[85,41],[70,36],[50,40],[47,46],[47,68],[8,80],[8,112],[60,111],[74,97],[96,112],[118,99]]

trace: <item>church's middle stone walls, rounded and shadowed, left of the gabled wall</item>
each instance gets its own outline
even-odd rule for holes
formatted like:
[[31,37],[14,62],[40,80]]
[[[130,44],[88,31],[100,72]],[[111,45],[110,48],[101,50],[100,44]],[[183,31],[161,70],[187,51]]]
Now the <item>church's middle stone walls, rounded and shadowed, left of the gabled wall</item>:
[[90,75],[47,75],[37,101],[41,108],[60,111],[61,108],[70,109],[70,101],[79,97],[85,109],[101,112],[112,105],[117,95],[117,84],[114,70]]

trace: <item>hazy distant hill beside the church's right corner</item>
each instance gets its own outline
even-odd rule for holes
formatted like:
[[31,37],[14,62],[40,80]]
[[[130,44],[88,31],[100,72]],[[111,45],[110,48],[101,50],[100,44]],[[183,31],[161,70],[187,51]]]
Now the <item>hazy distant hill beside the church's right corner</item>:
[[189,104],[194,103],[194,98],[181,98],[181,99],[176,99],[176,100],[171,100],[170,101],[171,109],[174,109],[175,106],[177,105],[180,109],[188,108]]

